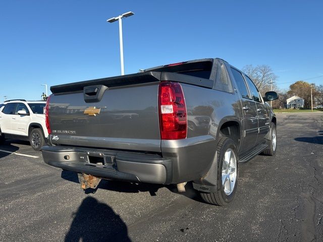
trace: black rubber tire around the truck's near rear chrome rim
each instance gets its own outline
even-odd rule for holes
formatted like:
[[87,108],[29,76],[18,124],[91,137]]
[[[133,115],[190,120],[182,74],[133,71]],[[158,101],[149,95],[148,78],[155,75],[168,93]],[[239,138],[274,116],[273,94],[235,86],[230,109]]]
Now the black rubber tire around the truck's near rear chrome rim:
[[[225,153],[228,149],[231,149],[234,151],[233,153],[236,159],[236,178],[235,178],[233,191],[229,195],[225,193],[224,187],[222,185],[222,165],[224,162]],[[209,204],[225,206],[231,203],[232,200],[234,199],[235,193],[237,191],[237,186],[238,186],[239,161],[238,161],[237,148],[236,148],[235,142],[228,137],[221,138],[217,146],[217,154],[218,154],[217,192],[215,193],[200,192],[200,195],[201,195],[201,198]]]

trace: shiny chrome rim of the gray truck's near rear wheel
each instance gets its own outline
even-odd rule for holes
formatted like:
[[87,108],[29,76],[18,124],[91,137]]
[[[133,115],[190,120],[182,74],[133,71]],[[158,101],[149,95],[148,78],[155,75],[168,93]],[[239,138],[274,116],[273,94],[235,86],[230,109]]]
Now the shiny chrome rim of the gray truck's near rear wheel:
[[237,179],[237,159],[234,150],[229,148],[223,158],[222,163],[222,186],[226,195],[230,195]]

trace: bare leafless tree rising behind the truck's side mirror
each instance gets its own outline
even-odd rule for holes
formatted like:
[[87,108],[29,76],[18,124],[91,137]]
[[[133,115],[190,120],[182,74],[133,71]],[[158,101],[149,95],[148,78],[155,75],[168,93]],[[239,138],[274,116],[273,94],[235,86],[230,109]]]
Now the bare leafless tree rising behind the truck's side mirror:
[[[272,68],[267,65],[258,65],[256,67],[246,65],[242,68],[242,71],[251,78],[261,93],[270,91],[271,82],[274,82],[278,78]],[[277,90],[277,86],[275,84],[273,84],[273,90]]]

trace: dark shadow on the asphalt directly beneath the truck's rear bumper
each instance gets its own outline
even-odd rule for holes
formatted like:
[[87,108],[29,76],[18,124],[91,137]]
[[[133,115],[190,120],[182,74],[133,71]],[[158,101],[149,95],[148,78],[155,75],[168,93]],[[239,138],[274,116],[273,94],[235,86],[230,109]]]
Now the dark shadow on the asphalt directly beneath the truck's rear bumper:
[[[63,179],[72,181],[74,183],[79,183],[78,175],[74,171],[62,170],[61,177]],[[88,188],[84,192],[85,194],[94,194],[97,189],[110,190],[120,193],[139,193],[139,192],[149,192],[150,196],[157,196],[156,192],[160,188],[167,188],[172,193],[183,195],[187,198],[193,199],[197,202],[204,203],[197,192],[193,189],[191,183],[187,183],[185,186],[186,192],[179,193],[175,185],[160,185],[160,184],[148,184],[148,183],[128,183],[126,181],[116,181],[116,180],[104,180],[102,179],[96,189]]]

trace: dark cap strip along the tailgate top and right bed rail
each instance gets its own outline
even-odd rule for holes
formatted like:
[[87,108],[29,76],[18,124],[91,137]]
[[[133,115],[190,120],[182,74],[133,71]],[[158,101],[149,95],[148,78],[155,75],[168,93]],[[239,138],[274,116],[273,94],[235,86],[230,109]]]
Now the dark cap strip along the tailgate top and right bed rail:
[[191,84],[206,88],[213,87],[213,81],[204,78],[192,77],[188,75],[171,73],[171,72],[143,72],[118,77],[101,78],[83,82],[74,82],[50,87],[53,94],[67,92],[82,92],[84,87],[93,85],[103,85],[108,88],[121,87],[135,84],[159,82],[159,81],[174,81],[180,83]]

